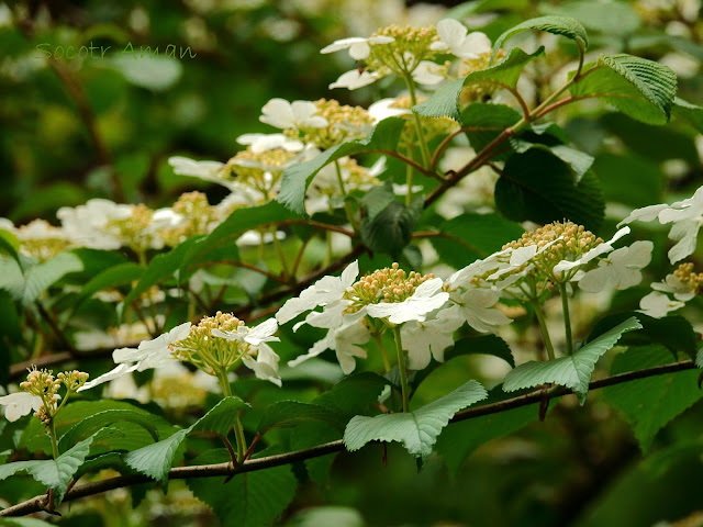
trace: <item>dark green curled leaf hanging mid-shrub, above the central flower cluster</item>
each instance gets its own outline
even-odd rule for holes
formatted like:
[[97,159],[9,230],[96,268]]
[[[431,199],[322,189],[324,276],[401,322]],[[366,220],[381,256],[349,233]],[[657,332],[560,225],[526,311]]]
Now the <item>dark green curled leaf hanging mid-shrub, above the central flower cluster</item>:
[[415,198],[410,206],[398,200],[391,201],[377,213],[373,220],[365,215],[361,220],[361,240],[375,253],[386,253],[398,258],[410,244],[413,228],[422,214],[424,200]]

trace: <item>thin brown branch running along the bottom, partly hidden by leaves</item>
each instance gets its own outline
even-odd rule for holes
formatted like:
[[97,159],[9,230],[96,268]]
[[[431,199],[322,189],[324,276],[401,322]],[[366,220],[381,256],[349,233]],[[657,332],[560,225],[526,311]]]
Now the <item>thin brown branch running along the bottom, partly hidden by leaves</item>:
[[[645,379],[648,377],[662,375],[667,373],[674,373],[678,371],[694,369],[695,365],[691,360],[682,362],[673,362],[671,365],[655,366],[652,368],[646,368],[643,370],[629,371],[626,373],[618,373],[616,375],[606,377],[596,381],[592,381],[589,384],[589,390],[599,390],[605,386],[612,386],[621,384],[623,382],[629,382],[637,379]],[[475,406],[472,408],[464,410],[457,413],[451,423],[459,423],[462,421],[473,419],[477,417],[498,414],[506,412],[509,410],[518,408],[521,406],[527,406],[529,404],[542,403],[545,399],[556,399],[572,393],[571,390],[562,386],[556,386],[545,392],[545,390],[536,390],[524,395],[517,395],[512,399],[499,401],[495,403],[484,404],[482,406]],[[297,461],[303,461],[305,459],[319,458],[328,453],[341,452],[344,450],[344,442],[339,439],[332,442],[325,442],[316,447],[306,448],[303,450],[295,450],[292,452],[280,453],[277,456],[267,456],[258,459],[250,459],[245,461],[239,467],[233,467],[232,462],[217,463],[217,464],[201,464],[192,467],[177,467],[171,469],[168,473],[169,480],[183,480],[196,478],[214,478],[214,476],[233,476],[238,473],[254,472],[257,470],[269,469],[272,467],[280,467],[283,464],[290,464]],[[101,494],[114,489],[121,489],[125,486],[132,486],[141,483],[148,483],[149,478],[142,474],[129,474],[119,475],[116,478],[110,478],[108,480],[97,481],[94,483],[87,483],[74,487],[66,493],[64,502],[72,502],[81,497],[92,496]],[[35,496],[26,502],[13,505],[3,511],[0,511],[0,517],[2,516],[24,516],[40,511],[45,511],[47,507],[47,495],[42,494]]]

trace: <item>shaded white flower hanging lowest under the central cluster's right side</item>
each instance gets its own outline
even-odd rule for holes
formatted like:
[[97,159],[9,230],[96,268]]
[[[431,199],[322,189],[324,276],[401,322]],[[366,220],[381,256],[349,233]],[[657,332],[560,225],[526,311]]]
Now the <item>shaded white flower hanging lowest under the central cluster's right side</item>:
[[400,334],[403,348],[408,350],[408,368],[422,370],[429,365],[431,357],[444,362],[444,351],[454,345],[453,334],[462,325],[462,317],[447,311],[429,321],[403,324]]

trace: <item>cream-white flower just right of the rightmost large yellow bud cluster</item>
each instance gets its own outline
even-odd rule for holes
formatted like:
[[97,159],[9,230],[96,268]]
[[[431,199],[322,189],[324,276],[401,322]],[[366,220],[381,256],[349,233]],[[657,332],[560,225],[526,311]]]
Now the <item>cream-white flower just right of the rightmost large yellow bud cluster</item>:
[[651,261],[651,242],[635,242],[621,247],[601,260],[595,269],[579,280],[579,288],[589,293],[599,293],[606,288],[627,289],[641,281],[641,269]]

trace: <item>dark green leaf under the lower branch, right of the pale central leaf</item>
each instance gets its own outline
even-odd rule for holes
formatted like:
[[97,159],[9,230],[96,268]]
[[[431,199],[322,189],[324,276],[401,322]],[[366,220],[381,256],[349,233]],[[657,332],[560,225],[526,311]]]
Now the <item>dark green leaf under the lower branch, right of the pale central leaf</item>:
[[[495,386],[481,405],[504,401],[511,396],[501,386]],[[464,461],[478,447],[493,439],[510,436],[534,423],[538,417],[539,403],[535,403],[454,423],[442,433],[435,450],[444,458],[449,472],[456,475]]]

